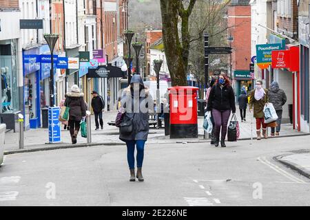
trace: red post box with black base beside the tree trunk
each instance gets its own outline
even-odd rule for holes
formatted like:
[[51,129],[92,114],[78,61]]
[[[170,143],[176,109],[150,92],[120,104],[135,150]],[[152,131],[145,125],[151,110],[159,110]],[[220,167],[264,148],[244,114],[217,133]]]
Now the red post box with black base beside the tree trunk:
[[170,138],[198,137],[197,87],[169,88]]

